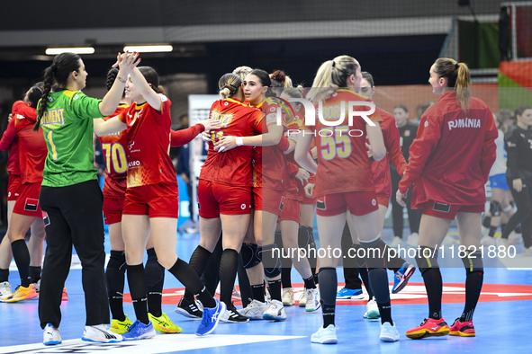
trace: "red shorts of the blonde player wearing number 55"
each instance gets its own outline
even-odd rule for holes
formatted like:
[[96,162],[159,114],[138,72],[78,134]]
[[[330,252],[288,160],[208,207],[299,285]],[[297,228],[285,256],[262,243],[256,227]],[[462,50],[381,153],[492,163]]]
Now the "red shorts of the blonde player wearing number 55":
[[373,190],[329,194],[319,197],[316,207],[316,213],[320,217],[334,217],[345,213],[347,209],[351,214],[361,217],[379,209]]

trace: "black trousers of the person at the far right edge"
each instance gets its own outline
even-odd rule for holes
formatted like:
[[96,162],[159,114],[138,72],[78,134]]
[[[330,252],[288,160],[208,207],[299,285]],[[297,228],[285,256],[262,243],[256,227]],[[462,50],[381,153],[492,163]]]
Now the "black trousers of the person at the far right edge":
[[518,211],[509,218],[500,237],[508,239],[509,234],[521,223],[521,233],[525,247],[532,246],[532,181],[523,181],[523,189],[514,190],[512,180],[507,179],[509,190],[518,207]]

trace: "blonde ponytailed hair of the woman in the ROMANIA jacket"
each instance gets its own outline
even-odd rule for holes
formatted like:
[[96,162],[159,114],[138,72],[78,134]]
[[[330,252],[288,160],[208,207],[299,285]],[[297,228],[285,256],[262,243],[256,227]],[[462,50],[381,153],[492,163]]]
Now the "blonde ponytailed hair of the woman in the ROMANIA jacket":
[[434,63],[434,72],[447,80],[447,86],[456,91],[456,102],[462,107],[462,111],[467,111],[471,99],[469,68],[455,59],[438,58]]

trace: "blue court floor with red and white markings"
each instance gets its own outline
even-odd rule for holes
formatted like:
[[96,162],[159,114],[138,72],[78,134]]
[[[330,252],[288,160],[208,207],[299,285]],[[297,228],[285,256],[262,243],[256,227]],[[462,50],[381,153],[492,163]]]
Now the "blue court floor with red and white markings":
[[[199,235],[178,235],[177,252],[186,261],[198,243]],[[385,230],[384,241],[390,241],[391,231]],[[448,247],[448,246],[447,246]],[[522,250],[518,244],[517,252]],[[447,253],[449,254],[449,253]],[[529,264],[530,261],[528,261]],[[174,312],[176,299],[183,286],[167,273],[163,311],[183,328],[179,334],[158,334],[146,341],[120,344],[88,344],[80,340],[85,325],[85,298],[81,288],[81,270],[70,271],[66,287],[68,301],[63,302],[60,332],[63,344],[45,347],[37,314],[37,299],[14,304],[0,303],[0,353],[163,353],[188,351],[194,353],[529,353],[532,337],[528,332],[532,318],[532,267],[516,268],[497,259],[484,261],[486,265],[482,296],[474,315],[475,338],[437,337],[412,341],[404,332],[421,323],[428,314],[423,280],[419,271],[409,286],[392,296],[392,316],[401,333],[395,343],[379,341],[379,322],[363,319],[365,302],[352,305],[337,303],[337,345],[311,344],[311,334],[320,327],[321,314],[307,314],[298,306],[286,307],[287,320],[281,323],[254,321],[249,323],[220,323],[213,335],[196,337],[199,322],[186,320]],[[442,263],[440,262],[440,265]],[[456,265],[450,261],[448,266]],[[512,266],[512,270],[507,268]],[[444,261],[445,266],[445,261]],[[451,324],[463,310],[464,268],[442,268],[444,279],[443,315]],[[299,274],[293,270],[293,286],[302,288]],[[389,272],[392,281],[392,272]],[[338,281],[343,271],[338,270]],[[18,272],[12,271],[10,282],[18,284]],[[458,284],[456,284],[458,283]],[[341,284],[338,284],[341,288]],[[128,291],[126,289],[126,291]],[[345,303],[345,302],[344,302]],[[240,306],[238,306],[240,307]],[[125,313],[134,318],[133,306],[124,304]]]

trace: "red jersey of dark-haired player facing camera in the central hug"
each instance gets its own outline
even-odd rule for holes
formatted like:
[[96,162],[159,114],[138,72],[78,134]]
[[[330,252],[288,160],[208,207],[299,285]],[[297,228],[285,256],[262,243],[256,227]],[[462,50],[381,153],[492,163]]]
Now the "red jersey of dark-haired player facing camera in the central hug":
[[[257,108],[262,111],[262,131],[268,132],[268,126],[277,122],[277,108],[290,111],[286,104],[277,98],[268,97]],[[284,118],[283,118],[284,122]],[[279,146],[256,146],[253,148],[253,187],[265,187],[270,190],[288,188],[288,172],[284,152]]]

